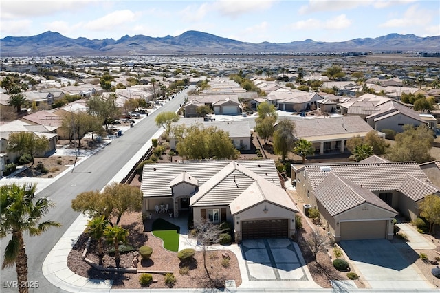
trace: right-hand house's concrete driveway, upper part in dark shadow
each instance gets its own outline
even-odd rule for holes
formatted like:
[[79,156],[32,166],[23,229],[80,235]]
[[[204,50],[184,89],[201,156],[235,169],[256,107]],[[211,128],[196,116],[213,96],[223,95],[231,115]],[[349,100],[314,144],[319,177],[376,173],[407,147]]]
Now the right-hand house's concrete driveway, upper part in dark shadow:
[[341,241],[361,279],[373,289],[431,289],[434,286],[385,239]]

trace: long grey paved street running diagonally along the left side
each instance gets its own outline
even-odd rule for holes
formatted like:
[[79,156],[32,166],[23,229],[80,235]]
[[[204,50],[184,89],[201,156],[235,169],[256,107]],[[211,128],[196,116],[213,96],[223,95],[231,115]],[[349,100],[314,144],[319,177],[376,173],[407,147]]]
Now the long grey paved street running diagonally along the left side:
[[[25,236],[26,252],[28,253],[28,281],[38,281],[39,288],[31,289],[30,292],[58,292],[57,288],[49,283],[42,274],[41,266],[46,255],[54,247],[58,239],[72,225],[73,221],[78,217],[78,213],[74,212],[70,207],[72,199],[83,191],[101,190],[118,171],[124,168],[137,151],[147,142],[151,141],[151,137],[157,132],[158,127],[155,125],[154,119],[158,113],[162,111],[177,111],[179,105],[184,102],[185,93],[182,92],[163,107],[157,109],[144,120],[137,122],[135,127],[128,129],[124,134],[113,140],[111,144],[106,146],[102,151],[87,158],[84,162],[78,164],[74,171],[65,173],[62,177],[54,180],[38,196],[48,196],[56,203],[56,208],[52,208],[46,219],[58,221],[63,226],[61,228],[50,228],[47,232],[39,237]],[[131,168],[131,166],[129,166]],[[0,180],[0,184],[5,180]],[[9,238],[1,239],[0,251],[1,257],[8,243]],[[16,281],[17,273],[15,268],[1,270],[1,292],[17,292],[3,286],[6,282]]]

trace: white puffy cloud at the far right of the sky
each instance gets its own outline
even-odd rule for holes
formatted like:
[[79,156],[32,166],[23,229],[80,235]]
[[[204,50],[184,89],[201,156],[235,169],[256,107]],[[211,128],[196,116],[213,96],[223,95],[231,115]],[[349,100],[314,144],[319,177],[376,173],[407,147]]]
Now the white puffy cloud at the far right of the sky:
[[408,8],[400,18],[389,19],[381,23],[379,28],[415,28],[426,27],[432,21],[432,13],[429,10],[419,9],[413,5]]

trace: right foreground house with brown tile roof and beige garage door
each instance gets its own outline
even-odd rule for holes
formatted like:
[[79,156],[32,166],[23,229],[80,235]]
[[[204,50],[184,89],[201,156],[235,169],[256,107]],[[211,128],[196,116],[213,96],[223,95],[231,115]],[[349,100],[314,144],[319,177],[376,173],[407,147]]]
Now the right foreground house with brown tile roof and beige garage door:
[[397,211],[414,221],[426,195],[440,194],[416,162],[292,165],[292,179],[337,242],[392,239]]

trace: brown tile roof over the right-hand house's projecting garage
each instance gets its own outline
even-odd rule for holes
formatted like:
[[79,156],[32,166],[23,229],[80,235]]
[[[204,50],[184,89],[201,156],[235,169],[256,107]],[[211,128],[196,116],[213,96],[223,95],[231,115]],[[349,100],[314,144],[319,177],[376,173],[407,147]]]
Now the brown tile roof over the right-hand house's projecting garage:
[[315,189],[314,194],[331,216],[338,215],[364,203],[389,210],[397,215],[397,212],[377,195],[358,184],[339,177],[335,173],[329,173],[322,184]]

